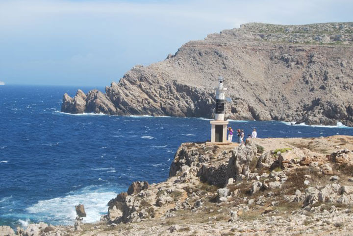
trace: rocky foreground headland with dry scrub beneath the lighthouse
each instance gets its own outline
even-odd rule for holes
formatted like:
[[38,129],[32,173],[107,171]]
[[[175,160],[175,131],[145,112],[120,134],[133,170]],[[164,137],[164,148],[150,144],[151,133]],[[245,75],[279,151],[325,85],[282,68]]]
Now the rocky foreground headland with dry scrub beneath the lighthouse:
[[166,181],[132,183],[99,223],[83,224],[77,205],[75,226],[30,224],[17,235],[350,235],[352,151],[352,136],[183,143]]

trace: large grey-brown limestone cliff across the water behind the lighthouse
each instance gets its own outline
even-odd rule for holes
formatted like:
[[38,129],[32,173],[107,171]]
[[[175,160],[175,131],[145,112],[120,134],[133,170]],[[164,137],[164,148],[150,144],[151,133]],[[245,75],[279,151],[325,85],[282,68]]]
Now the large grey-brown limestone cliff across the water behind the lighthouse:
[[353,126],[353,23],[243,24],[136,66],[105,94],[64,95],[62,111],[211,118],[225,78],[227,117]]

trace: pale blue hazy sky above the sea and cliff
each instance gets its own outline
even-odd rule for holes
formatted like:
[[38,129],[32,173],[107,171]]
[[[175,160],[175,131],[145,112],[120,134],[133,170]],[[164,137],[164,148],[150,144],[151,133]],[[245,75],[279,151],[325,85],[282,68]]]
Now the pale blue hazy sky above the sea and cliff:
[[240,24],[352,22],[352,0],[0,0],[0,81],[107,86]]

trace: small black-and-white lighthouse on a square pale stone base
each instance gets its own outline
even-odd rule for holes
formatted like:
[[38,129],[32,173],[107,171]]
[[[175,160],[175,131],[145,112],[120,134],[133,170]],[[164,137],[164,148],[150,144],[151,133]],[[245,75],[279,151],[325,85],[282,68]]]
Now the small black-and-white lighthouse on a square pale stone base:
[[223,87],[223,77],[220,76],[218,79],[218,86],[215,88],[216,94],[216,109],[215,118],[210,121],[211,124],[211,142],[206,144],[228,144],[231,142],[227,141],[227,126],[228,121],[224,120],[225,115],[225,102],[226,96],[225,91],[227,88]]

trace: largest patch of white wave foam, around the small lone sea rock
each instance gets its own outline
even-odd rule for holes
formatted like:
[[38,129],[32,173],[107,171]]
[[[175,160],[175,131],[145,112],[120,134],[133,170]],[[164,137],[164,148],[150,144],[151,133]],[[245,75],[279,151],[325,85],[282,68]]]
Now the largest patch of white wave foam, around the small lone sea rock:
[[56,220],[57,224],[73,224],[79,203],[85,206],[87,217],[83,222],[93,223],[100,220],[102,214],[107,212],[107,202],[116,196],[115,192],[97,192],[83,190],[78,194],[57,197],[49,200],[41,200],[31,207],[26,208],[29,213],[36,214],[41,221]]

